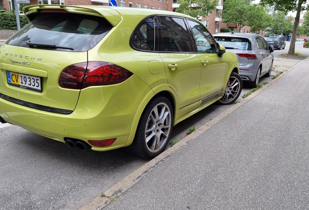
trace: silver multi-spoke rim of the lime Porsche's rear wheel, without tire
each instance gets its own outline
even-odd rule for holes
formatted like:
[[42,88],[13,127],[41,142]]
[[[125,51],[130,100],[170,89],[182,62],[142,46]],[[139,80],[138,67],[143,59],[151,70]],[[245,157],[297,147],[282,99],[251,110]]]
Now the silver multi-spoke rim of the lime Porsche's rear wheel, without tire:
[[154,106],[148,117],[145,129],[146,147],[156,153],[165,147],[172,125],[170,107],[165,103]]

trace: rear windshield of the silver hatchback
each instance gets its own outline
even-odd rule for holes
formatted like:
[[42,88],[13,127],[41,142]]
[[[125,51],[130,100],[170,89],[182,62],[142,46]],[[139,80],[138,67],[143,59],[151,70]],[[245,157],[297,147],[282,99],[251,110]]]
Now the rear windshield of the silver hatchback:
[[246,38],[215,37],[216,41],[223,44],[226,49],[251,50],[251,43]]

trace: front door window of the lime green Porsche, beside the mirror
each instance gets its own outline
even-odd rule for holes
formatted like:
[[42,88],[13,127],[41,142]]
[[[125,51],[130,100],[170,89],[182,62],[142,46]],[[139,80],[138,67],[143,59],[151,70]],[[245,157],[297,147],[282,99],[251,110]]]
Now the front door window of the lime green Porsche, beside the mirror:
[[194,44],[199,53],[216,53],[215,41],[208,30],[200,23],[188,20],[194,36]]

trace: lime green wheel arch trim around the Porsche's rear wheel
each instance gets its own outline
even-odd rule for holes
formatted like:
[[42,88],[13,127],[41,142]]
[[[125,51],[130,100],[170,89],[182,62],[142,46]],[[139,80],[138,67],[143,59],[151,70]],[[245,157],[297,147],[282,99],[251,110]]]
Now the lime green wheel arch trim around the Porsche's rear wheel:
[[143,99],[143,101],[141,102],[141,104],[138,106],[136,115],[134,117],[132,126],[131,126],[131,130],[130,130],[130,134],[129,134],[129,138],[127,140],[127,143],[125,144],[125,146],[129,146],[135,137],[136,134],[136,130],[137,130],[137,126],[138,123],[140,121],[141,115],[143,113],[143,111],[145,110],[146,106],[156,97],[159,96],[164,96],[166,97],[172,104],[172,108],[173,108],[173,112],[174,112],[174,119],[173,119],[173,123],[175,122],[175,116],[176,116],[176,110],[178,107],[178,100],[177,100],[177,94],[176,92],[169,87],[167,84],[163,84],[160,85],[158,87],[155,87],[154,89],[152,89],[152,91],[150,91],[145,98]]

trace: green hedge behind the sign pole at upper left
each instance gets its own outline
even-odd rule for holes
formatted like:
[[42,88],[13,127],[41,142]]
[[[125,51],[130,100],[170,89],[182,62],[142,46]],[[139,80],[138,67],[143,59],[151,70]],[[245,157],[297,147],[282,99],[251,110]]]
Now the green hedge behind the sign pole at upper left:
[[[24,27],[29,20],[25,15],[19,15],[20,28]],[[0,13],[0,29],[17,30],[17,21],[14,11]]]

